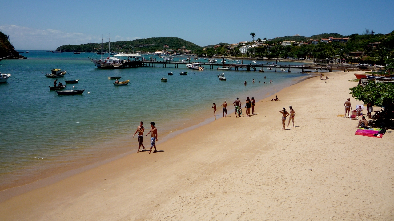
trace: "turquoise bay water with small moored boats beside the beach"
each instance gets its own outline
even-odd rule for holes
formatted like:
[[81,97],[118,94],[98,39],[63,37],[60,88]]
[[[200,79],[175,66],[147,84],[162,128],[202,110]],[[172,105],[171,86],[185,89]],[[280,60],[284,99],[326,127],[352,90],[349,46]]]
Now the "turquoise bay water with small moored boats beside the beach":
[[[154,121],[160,134],[168,134],[211,117],[214,102],[219,116],[223,100],[231,105],[236,97],[261,99],[308,76],[218,71],[209,66],[197,71],[186,70],[184,65],[101,70],[87,58],[93,53],[30,51],[22,55],[28,59],[0,62],[0,72],[12,75],[0,84],[0,190],[130,151],[136,148],[136,138],[131,136],[139,121],[147,128]],[[176,56],[175,60],[185,58]],[[251,60],[243,60],[248,63]],[[86,89],[84,94],[60,96],[50,91],[48,86],[55,79],[41,72],[53,68],[69,73],[57,78],[63,84],[66,79],[80,79],[67,89]],[[188,75],[180,76],[183,71]],[[174,75],[168,76],[168,72]],[[216,75],[220,73],[225,73],[227,81],[219,81]],[[116,87],[109,76],[122,76],[130,84]],[[168,82],[161,82],[162,77]],[[269,84],[269,79],[274,83]],[[144,143],[149,146],[147,139]]]

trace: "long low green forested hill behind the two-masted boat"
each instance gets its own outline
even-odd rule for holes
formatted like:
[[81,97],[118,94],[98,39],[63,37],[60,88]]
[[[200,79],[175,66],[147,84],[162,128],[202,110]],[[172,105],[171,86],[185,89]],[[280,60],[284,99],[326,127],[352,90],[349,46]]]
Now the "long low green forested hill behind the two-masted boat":
[[[89,43],[79,45],[63,45],[57,48],[62,52],[96,52],[97,48],[100,48],[100,43]],[[164,45],[169,48],[164,48]],[[133,41],[115,41],[111,42],[112,52],[132,52],[132,51],[143,51],[143,52],[155,52],[156,50],[172,49],[177,50],[185,46],[187,50],[198,50],[201,46],[194,44],[190,41],[180,39],[177,37],[160,37],[160,38],[147,38],[147,39],[136,39]],[[104,42],[103,52],[108,52],[108,42]]]

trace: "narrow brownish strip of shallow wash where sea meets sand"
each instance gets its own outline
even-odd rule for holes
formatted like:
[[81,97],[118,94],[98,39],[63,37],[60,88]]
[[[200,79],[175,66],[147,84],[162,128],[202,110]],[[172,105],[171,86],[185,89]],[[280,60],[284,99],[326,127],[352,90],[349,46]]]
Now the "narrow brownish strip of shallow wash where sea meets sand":
[[[282,83],[280,85],[275,85],[275,86],[279,86],[273,88],[270,91],[266,91],[264,88],[260,88],[260,89],[256,89],[254,91],[248,92],[248,94],[244,94],[244,95],[240,95],[240,100],[242,101],[243,105],[244,105],[244,101],[243,101],[243,97],[242,96],[254,96],[256,101],[261,101],[264,98],[267,98],[269,96],[274,95],[277,92],[280,92],[281,90],[283,90],[284,88],[290,87],[291,85],[300,83],[306,79],[312,78],[312,77],[316,77],[318,75],[314,75],[314,74],[309,74],[308,76],[303,76],[303,77],[299,77],[298,79],[294,79],[292,80],[290,83]],[[258,84],[258,82],[255,84]],[[256,95],[250,95],[250,94],[256,94]],[[235,99],[235,98],[234,98]],[[178,136],[182,133],[185,133],[187,131],[191,131],[193,129],[196,129],[198,127],[201,127],[203,125],[206,125],[208,123],[214,122],[215,120],[219,119],[219,118],[223,118],[222,116],[222,111],[221,108],[219,106],[220,104],[217,104],[217,111],[216,111],[216,119],[212,116],[207,117],[208,113],[211,114],[213,112],[213,109],[208,109],[208,110],[201,110],[199,112],[196,112],[191,118],[196,118],[196,120],[188,120],[186,127],[179,127],[177,129],[171,129],[171,131],[163,131],[162,133],[160,133],[160,128],[159,128],[159,136],[160,139],[158,142],[156,142],[156,144],[158,145],[158,149],[160,150],[160,143],[165,142],[175,136]],[[227,112],[227,116],[229,116],[230,114],[233,114],[235,112],[235,109],[232,108],[232,100],[229,100],[228,102],[229,108],[228,108],[228,112]],[[209,105],[208,105],[209,106]],[[245,113],[243,113],[245,114]],[[149,122],[144,122],[145,125],[145,130],[149,130]],[[137,127],[137,125],[133,125],[135,127]],[[133,130],[132,130],[133,131]],[[147,132],[147,131],[145,131]],[[134,133],[132,133],[134,134]],[[6,188],[4,190],[0,191],[0,202],[6,201],[9,198],[15,197],[17,195],[20,195],[22,193],[26,193],[29,192],[31,190],[35,190],[37,188],[41,188],[44,186],[48,186],[50,184],[53,184],[55,182],[58,182],[60,180],[63,180],[67,177],[70,177],[72,175],[76,175],[78,173],[81,173],[83,171],[87,171],[89,169],[95,168],[97,166],[106,164],[108,162],[112,162],[114,160],[117,160],[119,158],[122,157],[126,157],[127,155],[130,154],[136,154],[136,151],[138,149],[138,145],[137,141],[136,141],[136,137],[135,140],[131,139],[132,138],[132,134],[128,134],[124,137],[119,137],[117,138],[117,141],[119,142],[117,145],[122,146],[122,148],[119,151],[114,151],[113,153],[107,153],[106,155],[102,155],[102,156],[98,156],[98,157],[93,157],[90,160],[86,160],[85,162],[79,163],[79,164],[75,164],[74,166],[69,166],[69,169],[64,170],[63,169],[56,169],[56,170],[49,170],[47,172],[44,172],[41,174],[41,176],[39,177],[39,179],[28,179],[26,180],[27,182],[21,184],[21,185],[17,185],[17,186],[13,186],[13,187],[9,187]],[[164,135],[164,136],[163,136]],[[148,136],[144,136],[144,140],[145,140],[145,144],[147,144],[147,140],[149,142],[149,137]],[[107,140],[106,142],[103,142],[101,144],[99,144],[99,146],[110,146],[112,145],[114,142],[114,140]],[[130,145],[131,144],[131,145]],[[146,145],[146,149],[149,149],[149,145]],[[94,150],[95,148],[91,148],[92,150]],[[128,150],[127,150],[128,149]],[[139,153],[139,154],[143,154]]]

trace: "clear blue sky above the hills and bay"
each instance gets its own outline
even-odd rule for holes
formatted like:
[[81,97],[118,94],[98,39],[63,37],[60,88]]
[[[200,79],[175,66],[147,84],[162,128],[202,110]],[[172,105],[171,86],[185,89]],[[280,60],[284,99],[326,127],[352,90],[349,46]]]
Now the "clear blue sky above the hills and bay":
[[[0,30],[16,49],[175,36],[200,46],[285,35],[394,30],[394,1],[6,1]],[[108,40],[107,40],[108,41]]]

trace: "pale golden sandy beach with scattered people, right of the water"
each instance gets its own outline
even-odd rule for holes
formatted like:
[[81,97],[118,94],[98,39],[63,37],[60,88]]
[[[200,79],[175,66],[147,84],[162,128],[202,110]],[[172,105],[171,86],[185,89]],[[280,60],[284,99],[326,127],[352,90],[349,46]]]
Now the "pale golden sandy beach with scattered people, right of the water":
[[[346,98],[353,109],[362,104],[349,94],[354,72],[327,76],[257,101],[256,116],[229,114],[157,143],[157,153],[126,155],[2,201],[1,219],[394,220],[393,133],[354,135],[358,122],[338,117]],[[270,101],[275,95],[280,101]],[[296,127],[281,130],[279,111],[289,105]]]

